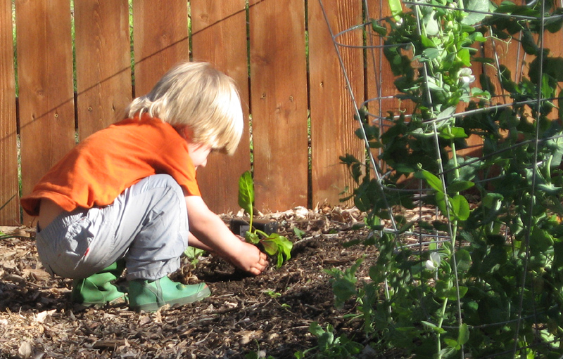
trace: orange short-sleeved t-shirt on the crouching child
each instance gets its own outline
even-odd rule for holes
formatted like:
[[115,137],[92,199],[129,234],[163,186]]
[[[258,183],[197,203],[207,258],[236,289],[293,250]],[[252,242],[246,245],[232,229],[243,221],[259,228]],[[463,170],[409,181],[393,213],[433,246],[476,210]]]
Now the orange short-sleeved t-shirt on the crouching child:
[[21,204],[31,216],[39,214],[43,198],[65,211],[103,207],[153,174],[169,174],[186,195],[201,195],[188,144],[170,124],[148,115],[124,119],[68,152]]

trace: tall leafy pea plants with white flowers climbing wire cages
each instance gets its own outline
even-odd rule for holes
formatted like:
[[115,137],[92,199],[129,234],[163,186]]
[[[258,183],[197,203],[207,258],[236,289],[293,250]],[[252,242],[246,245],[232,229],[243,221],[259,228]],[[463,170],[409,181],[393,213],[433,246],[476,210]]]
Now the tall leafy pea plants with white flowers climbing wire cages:
[[[560,358],[563,58],[542,39],[561,32],[563,9],[550,0],[389,5],[391,16],[370,30],[412,112],[388,112],[381,131],[369,103],[360,111],[356,133],[384,169],[341,157],[356,183],[348,199],[369,214],[365,245],[379,257],[369,281],[355,278],[357,266],[335,271],[336,302],[358,301],[365,335],[381,349]],[[486,56],[495,42],[526,53],[519,80]],[[481,138],[481,153],[461,156],[469,136]],[[395,214],[417,205],[436,208],[434,220]],[[407,235],[417,247],[404,244]]]

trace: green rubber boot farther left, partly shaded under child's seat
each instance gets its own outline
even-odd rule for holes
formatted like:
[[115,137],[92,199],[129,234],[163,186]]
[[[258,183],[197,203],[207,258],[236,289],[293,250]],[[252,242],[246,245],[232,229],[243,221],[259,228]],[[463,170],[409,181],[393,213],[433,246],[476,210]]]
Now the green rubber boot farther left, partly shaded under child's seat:
[[113,285],[125,269],[125,261],[117,261],[88,278],[72,281],[70,299],[83,306],[103,306],[107,303],[125,302],[125,292]]

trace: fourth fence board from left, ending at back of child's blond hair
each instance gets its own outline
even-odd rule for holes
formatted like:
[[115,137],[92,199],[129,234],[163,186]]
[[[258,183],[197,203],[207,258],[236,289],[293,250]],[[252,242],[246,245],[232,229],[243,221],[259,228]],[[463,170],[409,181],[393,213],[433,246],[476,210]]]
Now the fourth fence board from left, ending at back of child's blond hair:
[[135,96],[151,91],[158,79],[182,60],[189,60],[186,0],[133,2]]

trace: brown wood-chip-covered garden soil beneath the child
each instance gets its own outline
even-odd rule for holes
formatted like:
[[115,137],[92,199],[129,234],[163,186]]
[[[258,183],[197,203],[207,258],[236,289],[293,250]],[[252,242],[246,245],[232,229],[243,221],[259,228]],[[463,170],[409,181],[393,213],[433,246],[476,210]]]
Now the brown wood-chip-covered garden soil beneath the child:
[[[346,270],[364,258],[358,277],[369,280],[374,247],[342,245],[369,235],[361,228],[363,216],[339,207],[264,216],[277,221],[278,232],[294,243],[291,260],[249,276],[210,254],[196,263],[183,257],[172,279],[207,282],[212,296],[154,313],[129,311],[124,304],[71,303],[72,280],[50,278],[41,268],[33,230],[0,228],[10,234],[0,240],[0,358],[286,359],[317,346],[309,332],[312,322],[333,325],[336,336],[361,343],[361,321],[350,316],[357,313],[356,303],[350,299],[334,307],[327,270]],[[222,215],[225,223],[233,217]],[[298,237],[293,228],[304,234]],[[363,358],[380,357],[367,349]]]

